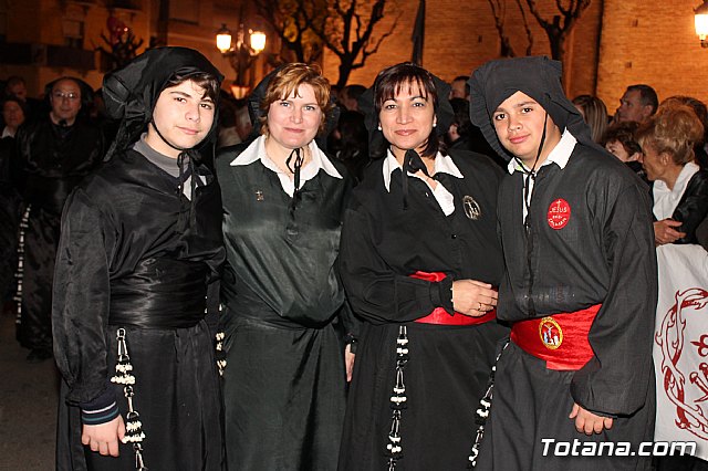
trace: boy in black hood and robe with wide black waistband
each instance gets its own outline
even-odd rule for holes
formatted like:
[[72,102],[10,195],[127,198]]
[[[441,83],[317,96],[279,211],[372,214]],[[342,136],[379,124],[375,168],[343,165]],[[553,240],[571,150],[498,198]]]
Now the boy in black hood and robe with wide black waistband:
[[58,469],[222,469],[221,205],[197,150],[216,134],[221,78],[185,48],[104,78],[122,124],[66,202],[56,259]]

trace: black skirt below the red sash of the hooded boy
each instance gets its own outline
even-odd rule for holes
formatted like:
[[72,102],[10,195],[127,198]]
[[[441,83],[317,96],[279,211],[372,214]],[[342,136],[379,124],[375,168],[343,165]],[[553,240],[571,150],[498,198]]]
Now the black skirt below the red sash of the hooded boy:
[[[513,342],[504,349],[494,375],[491,414],[485,429],[476,470],[517,471],[608,471],[648,470],[650,457],[638,457],[639,442],[654,437],[655,394],[648,388],[645,406],[631,417],[614,419],[612,429],[586,436],[575,430],[569,419],[573,408],[570,385],[575,371],[545,368]],[[652,375],[652,381],[654,377]],[[545,439],[545,441],[543,441]],[[552,439],[553,441],[549,441]],[[581,443],[577,450],[590,449],[591,442],[629,442],[634,456],[572,456],[564,444]],[[587,443],[587,444],[585,444]],[[580,454],[580,451],[579,451]]]

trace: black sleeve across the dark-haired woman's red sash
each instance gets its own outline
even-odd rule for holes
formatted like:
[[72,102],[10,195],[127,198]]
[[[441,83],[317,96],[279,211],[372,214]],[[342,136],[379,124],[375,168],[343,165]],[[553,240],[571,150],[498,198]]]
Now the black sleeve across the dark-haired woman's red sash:
[[356,314],[384,324],[415,321],[435,307],[452,313],[452,276],[429,282],[396,273],[372,240],[375,222],[356,197],[352,200],[344,218],[340,257],[344,286]]

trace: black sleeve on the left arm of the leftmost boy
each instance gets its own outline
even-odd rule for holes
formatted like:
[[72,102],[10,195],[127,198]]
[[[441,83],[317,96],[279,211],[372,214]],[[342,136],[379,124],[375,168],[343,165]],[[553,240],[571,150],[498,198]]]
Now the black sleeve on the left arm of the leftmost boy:
[[114,234],[87,195],[74,191],[62,219],[52,304],[54,356],[72,404],[90,402],[106,388],[108,254]]

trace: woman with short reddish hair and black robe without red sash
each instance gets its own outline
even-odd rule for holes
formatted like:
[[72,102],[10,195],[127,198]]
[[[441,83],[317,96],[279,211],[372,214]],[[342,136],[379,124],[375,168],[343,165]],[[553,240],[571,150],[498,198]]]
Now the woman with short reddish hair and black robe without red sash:
[[261,135],[217,158],[228,469],[333,470],[346,387],[334,321],[350,343],[354,327],[336,266],[352,181],[315,142],[333,109],[330,83],[316,66],[284,65],[251,109]]

